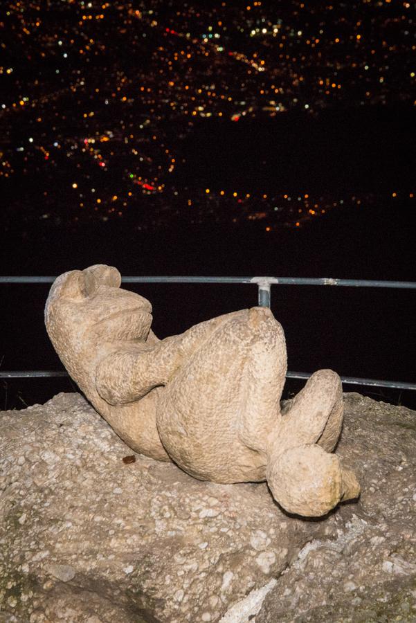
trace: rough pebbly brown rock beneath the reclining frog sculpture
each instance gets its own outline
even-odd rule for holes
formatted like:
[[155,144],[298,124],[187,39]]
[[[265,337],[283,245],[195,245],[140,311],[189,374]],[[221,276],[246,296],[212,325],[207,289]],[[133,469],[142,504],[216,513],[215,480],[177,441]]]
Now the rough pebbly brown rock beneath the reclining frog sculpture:
[[[416,621],[416,413],[345,395],[358,503],[135,455],[78,394],[0,414],[0,622]],[[269,591],[269,592],[268,592]],[[257,614],[258,613],[258,614]]]

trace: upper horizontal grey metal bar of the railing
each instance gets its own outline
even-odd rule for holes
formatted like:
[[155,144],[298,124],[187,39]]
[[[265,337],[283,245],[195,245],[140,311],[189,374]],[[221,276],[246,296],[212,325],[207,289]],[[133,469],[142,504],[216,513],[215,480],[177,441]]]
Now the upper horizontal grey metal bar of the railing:
[[[55,277],[0,276],[0,283],[52,283]],[[380,281],[373,279],[334,279],[329,277],[188,277],[127,276],[124,283],[253,283],[261,285],[323,285],[362,288],[416,289],[414,281]]]

